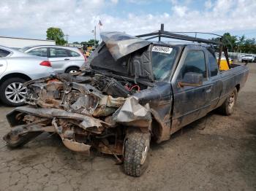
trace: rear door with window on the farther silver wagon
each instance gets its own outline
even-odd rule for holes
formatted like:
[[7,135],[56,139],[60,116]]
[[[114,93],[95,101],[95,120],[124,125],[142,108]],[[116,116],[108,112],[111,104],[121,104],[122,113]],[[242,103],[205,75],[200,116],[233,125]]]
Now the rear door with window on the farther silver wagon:
[[49,47],[49,61],[53,70],[58,73],[64,73],[65,69],[72,65],[67,50],[59,47]]

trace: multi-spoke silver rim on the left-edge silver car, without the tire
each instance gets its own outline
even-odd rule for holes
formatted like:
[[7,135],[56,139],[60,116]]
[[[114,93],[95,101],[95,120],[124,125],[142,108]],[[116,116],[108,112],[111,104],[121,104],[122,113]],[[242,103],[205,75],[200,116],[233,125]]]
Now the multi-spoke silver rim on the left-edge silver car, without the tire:
[[26,87],[20,82],[12,82],[5,88],[4,94],[8,101],[18,104],[25,101]]

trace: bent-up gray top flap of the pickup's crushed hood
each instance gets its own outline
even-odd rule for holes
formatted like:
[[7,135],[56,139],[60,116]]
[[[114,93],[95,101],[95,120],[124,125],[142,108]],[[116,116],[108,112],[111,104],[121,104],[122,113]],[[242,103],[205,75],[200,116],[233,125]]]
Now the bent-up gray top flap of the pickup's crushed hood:
[[121,32],[104,32],[100,36],[116,61],[151,44],[149,41]]

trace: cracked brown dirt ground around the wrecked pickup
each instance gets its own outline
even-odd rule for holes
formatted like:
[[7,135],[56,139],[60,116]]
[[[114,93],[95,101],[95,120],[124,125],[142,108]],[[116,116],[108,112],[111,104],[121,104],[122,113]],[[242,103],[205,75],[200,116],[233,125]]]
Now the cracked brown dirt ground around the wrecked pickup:
[[[42,134],[15,150],[0,140],[0,190],[256,190],[256,64],[249,69],[235,113],[211,112],[153,144],[140,178],[124,175],[113,157],[85,157]],[[0,106],[0,137],[11,109]]]

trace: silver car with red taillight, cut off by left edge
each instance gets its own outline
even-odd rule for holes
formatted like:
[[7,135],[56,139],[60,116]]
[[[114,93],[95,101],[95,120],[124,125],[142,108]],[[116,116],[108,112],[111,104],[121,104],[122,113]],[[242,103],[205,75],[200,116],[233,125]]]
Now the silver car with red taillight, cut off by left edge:
[[0,46],[0,99],[9,106],[24,104],[23,82],[55,74],[48,58]]

